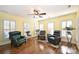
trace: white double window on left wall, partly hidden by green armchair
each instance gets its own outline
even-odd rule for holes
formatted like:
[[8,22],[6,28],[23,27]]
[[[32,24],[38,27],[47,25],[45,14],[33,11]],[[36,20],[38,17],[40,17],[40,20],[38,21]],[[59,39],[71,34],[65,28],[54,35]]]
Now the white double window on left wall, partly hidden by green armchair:
[[15,30],[15,21],[4,20],[4,39],[9,38],[9,32]]

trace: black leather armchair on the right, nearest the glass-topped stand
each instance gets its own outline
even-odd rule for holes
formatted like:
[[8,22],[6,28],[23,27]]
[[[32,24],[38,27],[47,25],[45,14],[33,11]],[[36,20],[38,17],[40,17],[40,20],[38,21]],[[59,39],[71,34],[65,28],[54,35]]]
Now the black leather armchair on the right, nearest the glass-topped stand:
[[58,31],[58,30],[54,31],[53,35],[48,34],[47,38],[48,38],[49,43],[52,43],[54,45],[59,45],[59,43],[61,41],[60,31]]

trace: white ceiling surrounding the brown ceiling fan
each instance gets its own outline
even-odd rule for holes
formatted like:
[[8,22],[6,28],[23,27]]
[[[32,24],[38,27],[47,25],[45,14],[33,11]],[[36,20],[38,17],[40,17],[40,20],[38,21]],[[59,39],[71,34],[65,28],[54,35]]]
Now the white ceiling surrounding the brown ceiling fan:
[[32,15],[30,16],[28,14],[32,14],[33,10],[37,9],[40,12],[46,12],[46,16],[39,18],[44,19],[75,12],[77,8],[79,8],[79,5],[73,5],[70,8],[68,8],[68,5],[1,5],[0,11],[32,18]]

